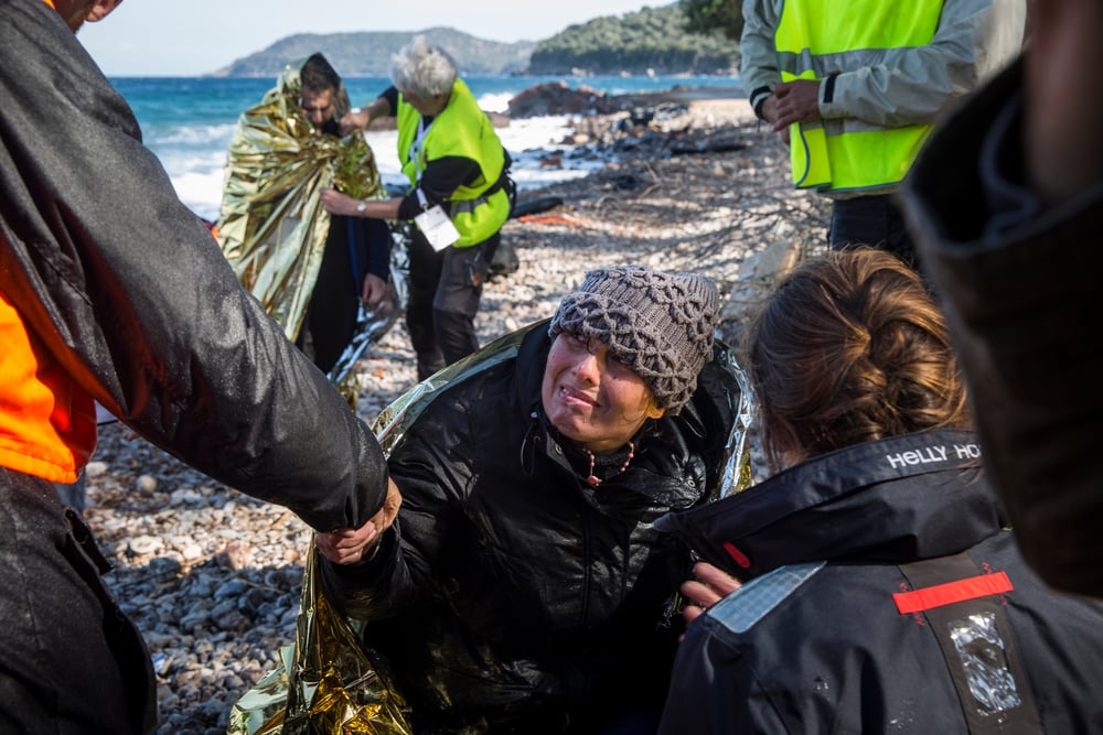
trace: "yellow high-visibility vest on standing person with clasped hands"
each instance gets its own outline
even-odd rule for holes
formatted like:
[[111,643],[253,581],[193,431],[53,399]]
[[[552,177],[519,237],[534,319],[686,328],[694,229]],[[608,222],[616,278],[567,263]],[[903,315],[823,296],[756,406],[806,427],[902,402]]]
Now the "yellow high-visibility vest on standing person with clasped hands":
[[[941,0],[786,0],[774,47],[782,82],[891,62],[934,37]],[[821,191],[884,188],[903,180],[930,125],[884,128],[855,118],[790,126],[793,184]]]

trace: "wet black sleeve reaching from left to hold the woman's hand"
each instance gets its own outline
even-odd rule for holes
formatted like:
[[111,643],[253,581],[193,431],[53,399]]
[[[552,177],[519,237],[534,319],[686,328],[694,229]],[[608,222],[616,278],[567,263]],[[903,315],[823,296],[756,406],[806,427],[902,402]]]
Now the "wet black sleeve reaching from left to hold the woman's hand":
[[366,522],[386,488],[371,431],[240,288],[57,13],[0,15],[0,290],[28,329],[190,465],[322,531]]

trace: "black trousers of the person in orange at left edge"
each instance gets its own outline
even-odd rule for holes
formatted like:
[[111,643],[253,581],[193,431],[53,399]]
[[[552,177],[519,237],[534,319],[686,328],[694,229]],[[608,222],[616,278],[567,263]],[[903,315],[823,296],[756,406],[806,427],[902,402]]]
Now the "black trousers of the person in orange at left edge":
[[53,483],[0,467],[0,733],[157,727],[149,651]]

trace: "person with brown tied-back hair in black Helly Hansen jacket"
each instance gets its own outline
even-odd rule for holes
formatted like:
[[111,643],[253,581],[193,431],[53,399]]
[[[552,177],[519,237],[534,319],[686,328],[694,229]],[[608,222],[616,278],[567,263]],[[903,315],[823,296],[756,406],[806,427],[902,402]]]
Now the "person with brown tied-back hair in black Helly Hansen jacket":
[[1022,561],[918,274],[804,263],[749,360],[784,469],[657,523],[742,581],[698,598],[661,732],[1099,732],[1103,606]]

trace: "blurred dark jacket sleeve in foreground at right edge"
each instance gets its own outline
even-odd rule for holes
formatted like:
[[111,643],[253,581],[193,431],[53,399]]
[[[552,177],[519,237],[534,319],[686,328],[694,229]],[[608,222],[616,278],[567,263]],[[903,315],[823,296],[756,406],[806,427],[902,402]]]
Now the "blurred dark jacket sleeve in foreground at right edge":
[[932,136],[904,203],[1024,555],[1103,597],[1103,184],[1040,206],[1022,77],[1019,62]]

